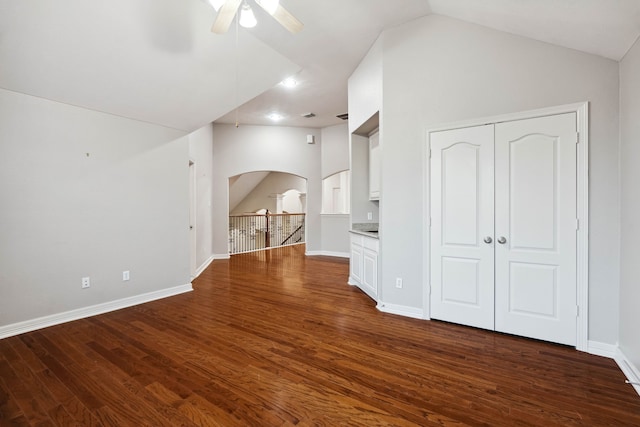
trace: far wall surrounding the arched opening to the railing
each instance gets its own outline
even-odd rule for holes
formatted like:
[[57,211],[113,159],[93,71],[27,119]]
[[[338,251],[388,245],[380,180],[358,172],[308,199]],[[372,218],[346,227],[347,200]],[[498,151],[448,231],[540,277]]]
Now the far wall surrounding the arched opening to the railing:
[[[307,135],[314,135],[316,144],[307,144]],[[229,177],[266,170],[307,179],[307,251],[320,251],[320,130],[214,124],[213,139],[212,235],[216,258],[228,256]]]

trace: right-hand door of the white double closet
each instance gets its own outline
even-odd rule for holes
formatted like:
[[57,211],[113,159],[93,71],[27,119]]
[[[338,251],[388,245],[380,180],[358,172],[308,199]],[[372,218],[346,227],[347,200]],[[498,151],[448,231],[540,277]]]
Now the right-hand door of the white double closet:
[[495,127],[496,330],[576,344],[576,114]]

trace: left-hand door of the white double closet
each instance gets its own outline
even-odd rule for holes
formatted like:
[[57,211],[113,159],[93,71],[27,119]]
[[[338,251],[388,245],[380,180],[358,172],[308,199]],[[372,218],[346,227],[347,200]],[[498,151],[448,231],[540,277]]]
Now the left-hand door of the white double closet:
[[431,134],[431,317],[485,329],[494,328],[493,139],[492,125]]

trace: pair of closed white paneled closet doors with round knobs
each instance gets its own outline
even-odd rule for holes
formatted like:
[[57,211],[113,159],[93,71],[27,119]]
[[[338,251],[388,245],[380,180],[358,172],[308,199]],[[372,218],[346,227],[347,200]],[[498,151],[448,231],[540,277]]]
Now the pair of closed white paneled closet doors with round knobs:
[[431,144],[431,317],[576,344],[576,114]]

